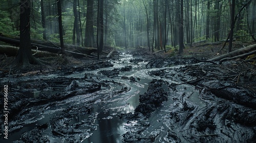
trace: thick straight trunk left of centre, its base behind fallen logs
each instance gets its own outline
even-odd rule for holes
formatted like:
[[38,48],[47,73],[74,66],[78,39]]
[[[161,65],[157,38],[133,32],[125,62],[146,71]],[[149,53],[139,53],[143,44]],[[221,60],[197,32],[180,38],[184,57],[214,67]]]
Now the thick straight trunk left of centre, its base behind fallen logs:
[[87,0],[86,13],[86,35],[84,36],[84,46],[93,47],[93,0]]

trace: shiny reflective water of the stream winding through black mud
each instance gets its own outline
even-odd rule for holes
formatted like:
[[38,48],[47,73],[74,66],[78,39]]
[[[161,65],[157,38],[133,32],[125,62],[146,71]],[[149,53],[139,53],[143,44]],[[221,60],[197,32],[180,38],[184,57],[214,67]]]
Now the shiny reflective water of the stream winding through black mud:
[[[92,78],[104,78],[105,80],[113,80],[118,83],[122,83],[121,85],[117,84],[110,84],[109,89],[96,91],[91,94],[87,94],[84,96],[78,96],[75,98],[66,99],[62,102],[57,102],[55,106],[47,108],[44,113],[40,112],[39,107],[35,108],[34,116],[35,117],[41,117],[39,120],[38,118],[36,122],[31,121],[31,124],[25,125],[22,129],[14,132],[13,134],[9,135],[8,142],[12,142],[15,140],[18,140],[20,135],[26,131],[30,131],[34,129],[36,126],[41,124],[49,124],[50,119],[53,115],[61,113],[64,109],[71,105],[82,105],[86,102],[86,100],[94,100],[97,99],[100,96],[109,96],[109,93],[120,90],[121,88],[129,87],[131,90],[120,93],[118,96],[112,97],[108,100],[102,100],[99,98],[95,101],[93,104],[93,111],[96,113],[97,117],[95,120],[94,125],[96,125],[96,130],[94,130],[88,138],[84,139],[82,142],[122,142],[122,135],[126,132],[125,128],[123,126],[129,126],[126,125],[125,121],[120,120],[117,115],[120,113],[129,113],[134,112],[134,109],[136,106],[139,105],[139,94],[143,94],[146,92],[148,88],[148,83],[152,81],[153,78],[159,77],[151,77],[147,75],[148,70],[154,70],[154,69],[145,69],[146,62],[139,62],[138,64],[131,63],[130,60],[133,59],[132,55],[120,55],[120,59],[118,61],[115,61],[114,67],[108,67],[108,68],[101,68],[97,70],[91,70],[91,71],[83,71],[81,73],[75,73],[71,75],[66,75],[67,77],[74,77],[74,78],[82,78],[84,77],[84,74],[90,75]],[[100,70],[112,70],[113,68],[121,68],[127,65],[132,65],[133,69],[132,71],[127,71],[124,73],[120,73],[118,77],[115,78],[106,78],[102,75],[98,74],[98,71]],[[127,77],[135,77],[139,78],[137,82],[131,82],[130,80],[124,80],[121,79],[122,76]],[[48,77],[40,77],[40,78],[46,78],[50,79],[53,77],[58,77],[58,75],[49,75]],[[168,79],[161,78],[162,80],[166,80],[170,82]],[[31,83],[35,82],[34,79],[27,80],[27,81],[18,81],[18,83]],[[43,82],[43,81],[42,81]],[[79,83],[82,84],[82,83]],[[194,87],[187,86],[187,85],[180,85],[179,88],[186,87],[185,92],[191,92],[192,96],[190,97],[191,102],[195,102],[198,105],[204,106],[204,103],[202,100],[199,99],[198,92],[195,91]],[[163,88],[165,91],[168,91],[167,85],[163,85]],[[31,94],[32,97],[37,97],[40,92],[45,93],[56,93],[60,91],[27,91],[26,94]],[[161,107],[159,107],[149,118],[149,121],[151,122],[151,126],[148,127],[148,131],[154,131],[158,129],[166,130],[167,128],[164,126],[164,115],[169,113],[168,111],[168,105],[174,103],[174,100],[168,99],[167,102],[163,103]],[[71,124],[74,124],[76,122],[80,122],[84,120],[85,118],[88,118],[88,115],[81,115],[77,116],[75,120],[72,120]],[[35,120],[36,120],[35,119]],[[49,124],[50,125],[50,124]],[[65,142],[61,140],[60,137],[54,136],[51,133],[51,128],[49,127],[44,131],[44,134],[49,135],[50,142]],[[161,136],[159,136],[161,138]],[[160,139],[161,140],[161,139]],[[6,142],[3,138],[0,139],[0,142]]]

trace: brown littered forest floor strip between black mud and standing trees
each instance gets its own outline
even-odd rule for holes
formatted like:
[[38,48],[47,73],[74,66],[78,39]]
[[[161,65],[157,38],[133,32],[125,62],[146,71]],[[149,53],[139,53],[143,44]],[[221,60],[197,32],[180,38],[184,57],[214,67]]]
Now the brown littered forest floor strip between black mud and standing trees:
[[[207,46],[200,46],[202,43],[197,43],[194,44],[193,47],[187,47],[183,50],[184,53],[182,55],[178,54],[178,50],[175,49],[167,49],[167,52],[160,52],[160,53],[155,53],[152,54],[152,52],[148,51],[148,48],[139,48],[139,49],[129,49],[126,50],[126,54],[132,54],[132,55],[143,55],[144,60],[148,59],[158,59],[163,58],[163,59],[170,59],[170,60],[176,60],[176,59],[186,59],[191,60],[191,58],[196,58],[199,60],[206,61],[207,59],[211,59],[213,57],[222,55],[227,53],[227,45],[223,50],[220,50],[222,47],[222,44],[219,45],[207,45]],[[233,50],[240,49],[241,47],[245,47],[251,44],[255,44],[254,42],[233,42]],[[105,49],[105,53],[108,53],[112,51],[113,49]],[[121,52],[124,52],[123,50]],[[97,56],[97,53],[93,53],[95,57]],[[37,58],[42,65],[28,65],[25,68],[13,68],[12,62],[15,59],[15,57],[7,57],[5,55],[0,55],[0,77],[6,75],[6,73],[11,74],[11,75],[17,75],[17,76],[30,76],[30,75],[44,75],[44,74],[49,74],[53,72],[72,72],[77,70],[76,68],[79,66],[92,66],[91,69],[97,69],[100,68],[101,65],[97,65],[97,63],[101,63],[102,61],[109,60],[110,58],[105,58],[106,55],[102,55],[100,60],[97,60],[95,58],[90,58],[90,57],[83,57],[83,58],[74,58],[74,57],[66,57],[66,56],[58,56],[58,57],[40,57]],[[118,57],[115,56],[113,58],[114,60],[118,60]],[[195,59],[192,59],[195,60]],[[238,59],[237,59],[238,60]],[[241,60],[243,61],[243,60]],[[162,61],[163,62],[163,61]],[[177,60],[177,62],[179,62]],[[216,62],[217,63],[217,62]],[[160,65],[157,67],[165,66]],[[179,63],[176,63],[176,65]],[[180,63],[182,64],[182,63]],[[236,68],[246,68],[244,67],[245,64],[248,63],[242,63],[240,65],[230,63],[229,66],[233,70],[237,70]],[[255,65],[255,63],[253,63]],[[95,67],[94,67],[95,65]],[[253,69],[253,68],[252,68]],[[240,76],[241,73],[237,73],[238,76]],[[2,76],[1,76],[2,75]],[[236,82],[237,80],[237,82]],[[242,82],[239,82],[239,81]],[[234,78],[233,80],[235,83],[239,84],[239,86],[245,87],[252,89],[253,91],[256,91],[256,86],[254,83],[244,83],[246,80],[243,78]]]

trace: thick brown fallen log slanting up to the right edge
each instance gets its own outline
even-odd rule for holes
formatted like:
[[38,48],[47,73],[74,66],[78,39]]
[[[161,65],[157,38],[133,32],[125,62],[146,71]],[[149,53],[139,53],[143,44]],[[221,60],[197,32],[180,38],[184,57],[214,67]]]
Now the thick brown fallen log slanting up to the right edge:
[[230,53],[227,53],[227,54],[224,54],[224,55],[221,55],[221,56],[209,59],[207,61],[220,61],[220,60],[222,60],[224,58],[231,58],[231,57],[234,57],[234,56],[243,55],[243,54],[248,53],[248,52],[253,51],[253,50],[256,50],[256,44],[246,46],[246,47],[244,47],[242,49],[238,49],[238,50],[232,51]]

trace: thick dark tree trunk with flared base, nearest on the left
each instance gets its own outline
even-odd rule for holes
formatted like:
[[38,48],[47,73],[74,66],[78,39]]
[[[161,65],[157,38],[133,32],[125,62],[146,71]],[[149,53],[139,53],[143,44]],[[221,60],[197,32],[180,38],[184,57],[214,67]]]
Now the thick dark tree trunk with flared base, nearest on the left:
[[39,64],[39,62],[32,56],[31,52],[31,38],[30,38],[30,0],[20,0],[20,43],[18,54],[14,60],[14,65],[25,66],[29,64]]

